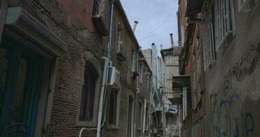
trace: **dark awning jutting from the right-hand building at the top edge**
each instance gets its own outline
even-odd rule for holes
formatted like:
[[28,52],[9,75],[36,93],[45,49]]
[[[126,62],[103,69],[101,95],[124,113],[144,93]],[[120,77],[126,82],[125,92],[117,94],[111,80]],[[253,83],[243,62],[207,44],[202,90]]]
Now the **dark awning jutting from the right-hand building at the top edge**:
[[204,0],[187,0],[186,16],[191,16],[201,11]]

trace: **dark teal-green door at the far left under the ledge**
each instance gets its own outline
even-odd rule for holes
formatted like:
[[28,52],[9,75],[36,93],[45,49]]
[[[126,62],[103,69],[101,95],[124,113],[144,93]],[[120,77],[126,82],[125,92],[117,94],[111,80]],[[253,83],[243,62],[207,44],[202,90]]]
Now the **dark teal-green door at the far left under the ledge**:
[[0,136],[34,136],[43,57],[2,39],[0,45]]

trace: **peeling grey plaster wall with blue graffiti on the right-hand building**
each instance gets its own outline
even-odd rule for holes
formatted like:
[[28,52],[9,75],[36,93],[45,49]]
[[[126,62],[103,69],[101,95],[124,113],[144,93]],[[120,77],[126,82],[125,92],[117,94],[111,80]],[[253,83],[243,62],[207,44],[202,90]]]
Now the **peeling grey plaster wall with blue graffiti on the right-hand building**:
[[217,51],[217,64],[206,73],[204,136],[259,136],[260,134],[260,4],[252,12],[238,12],[236,35]]

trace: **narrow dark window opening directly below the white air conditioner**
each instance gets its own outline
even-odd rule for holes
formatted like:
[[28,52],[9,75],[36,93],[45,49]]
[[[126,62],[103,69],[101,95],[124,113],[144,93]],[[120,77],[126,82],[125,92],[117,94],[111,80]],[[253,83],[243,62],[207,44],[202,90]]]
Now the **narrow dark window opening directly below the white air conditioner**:
[[108,123],[109,125],[116,125],[117,123],[117,90],[110,92]]

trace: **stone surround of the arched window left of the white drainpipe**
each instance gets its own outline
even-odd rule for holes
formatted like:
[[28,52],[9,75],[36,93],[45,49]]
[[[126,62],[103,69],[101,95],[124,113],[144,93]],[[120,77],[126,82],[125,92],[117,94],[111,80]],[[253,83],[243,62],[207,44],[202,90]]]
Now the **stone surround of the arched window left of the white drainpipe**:
[[[86,64],[87,63],[87,64]],[[95,95],[94,95],[94,103],[93,103],[93,119],[91,121],[80,121],[80,107],[81,107],[81,100],[82,100],[82,88],[84,84],[84,69],[85,66],[89,65],[93,67],[93,71],[97,73],[97,79],[95,82]],[[96,127],[97,126],[97,114],[98,114],[98,105],[99,105],[99,95],[100,95],[100,87],[102,82],[102,68],[101,62],[95,58],[91,51],[83,51],[82,53],[82,69],[81,69],[81,82],[80,88],[78,92],[78,112],[76,116],[75,125],[78,127]]]

